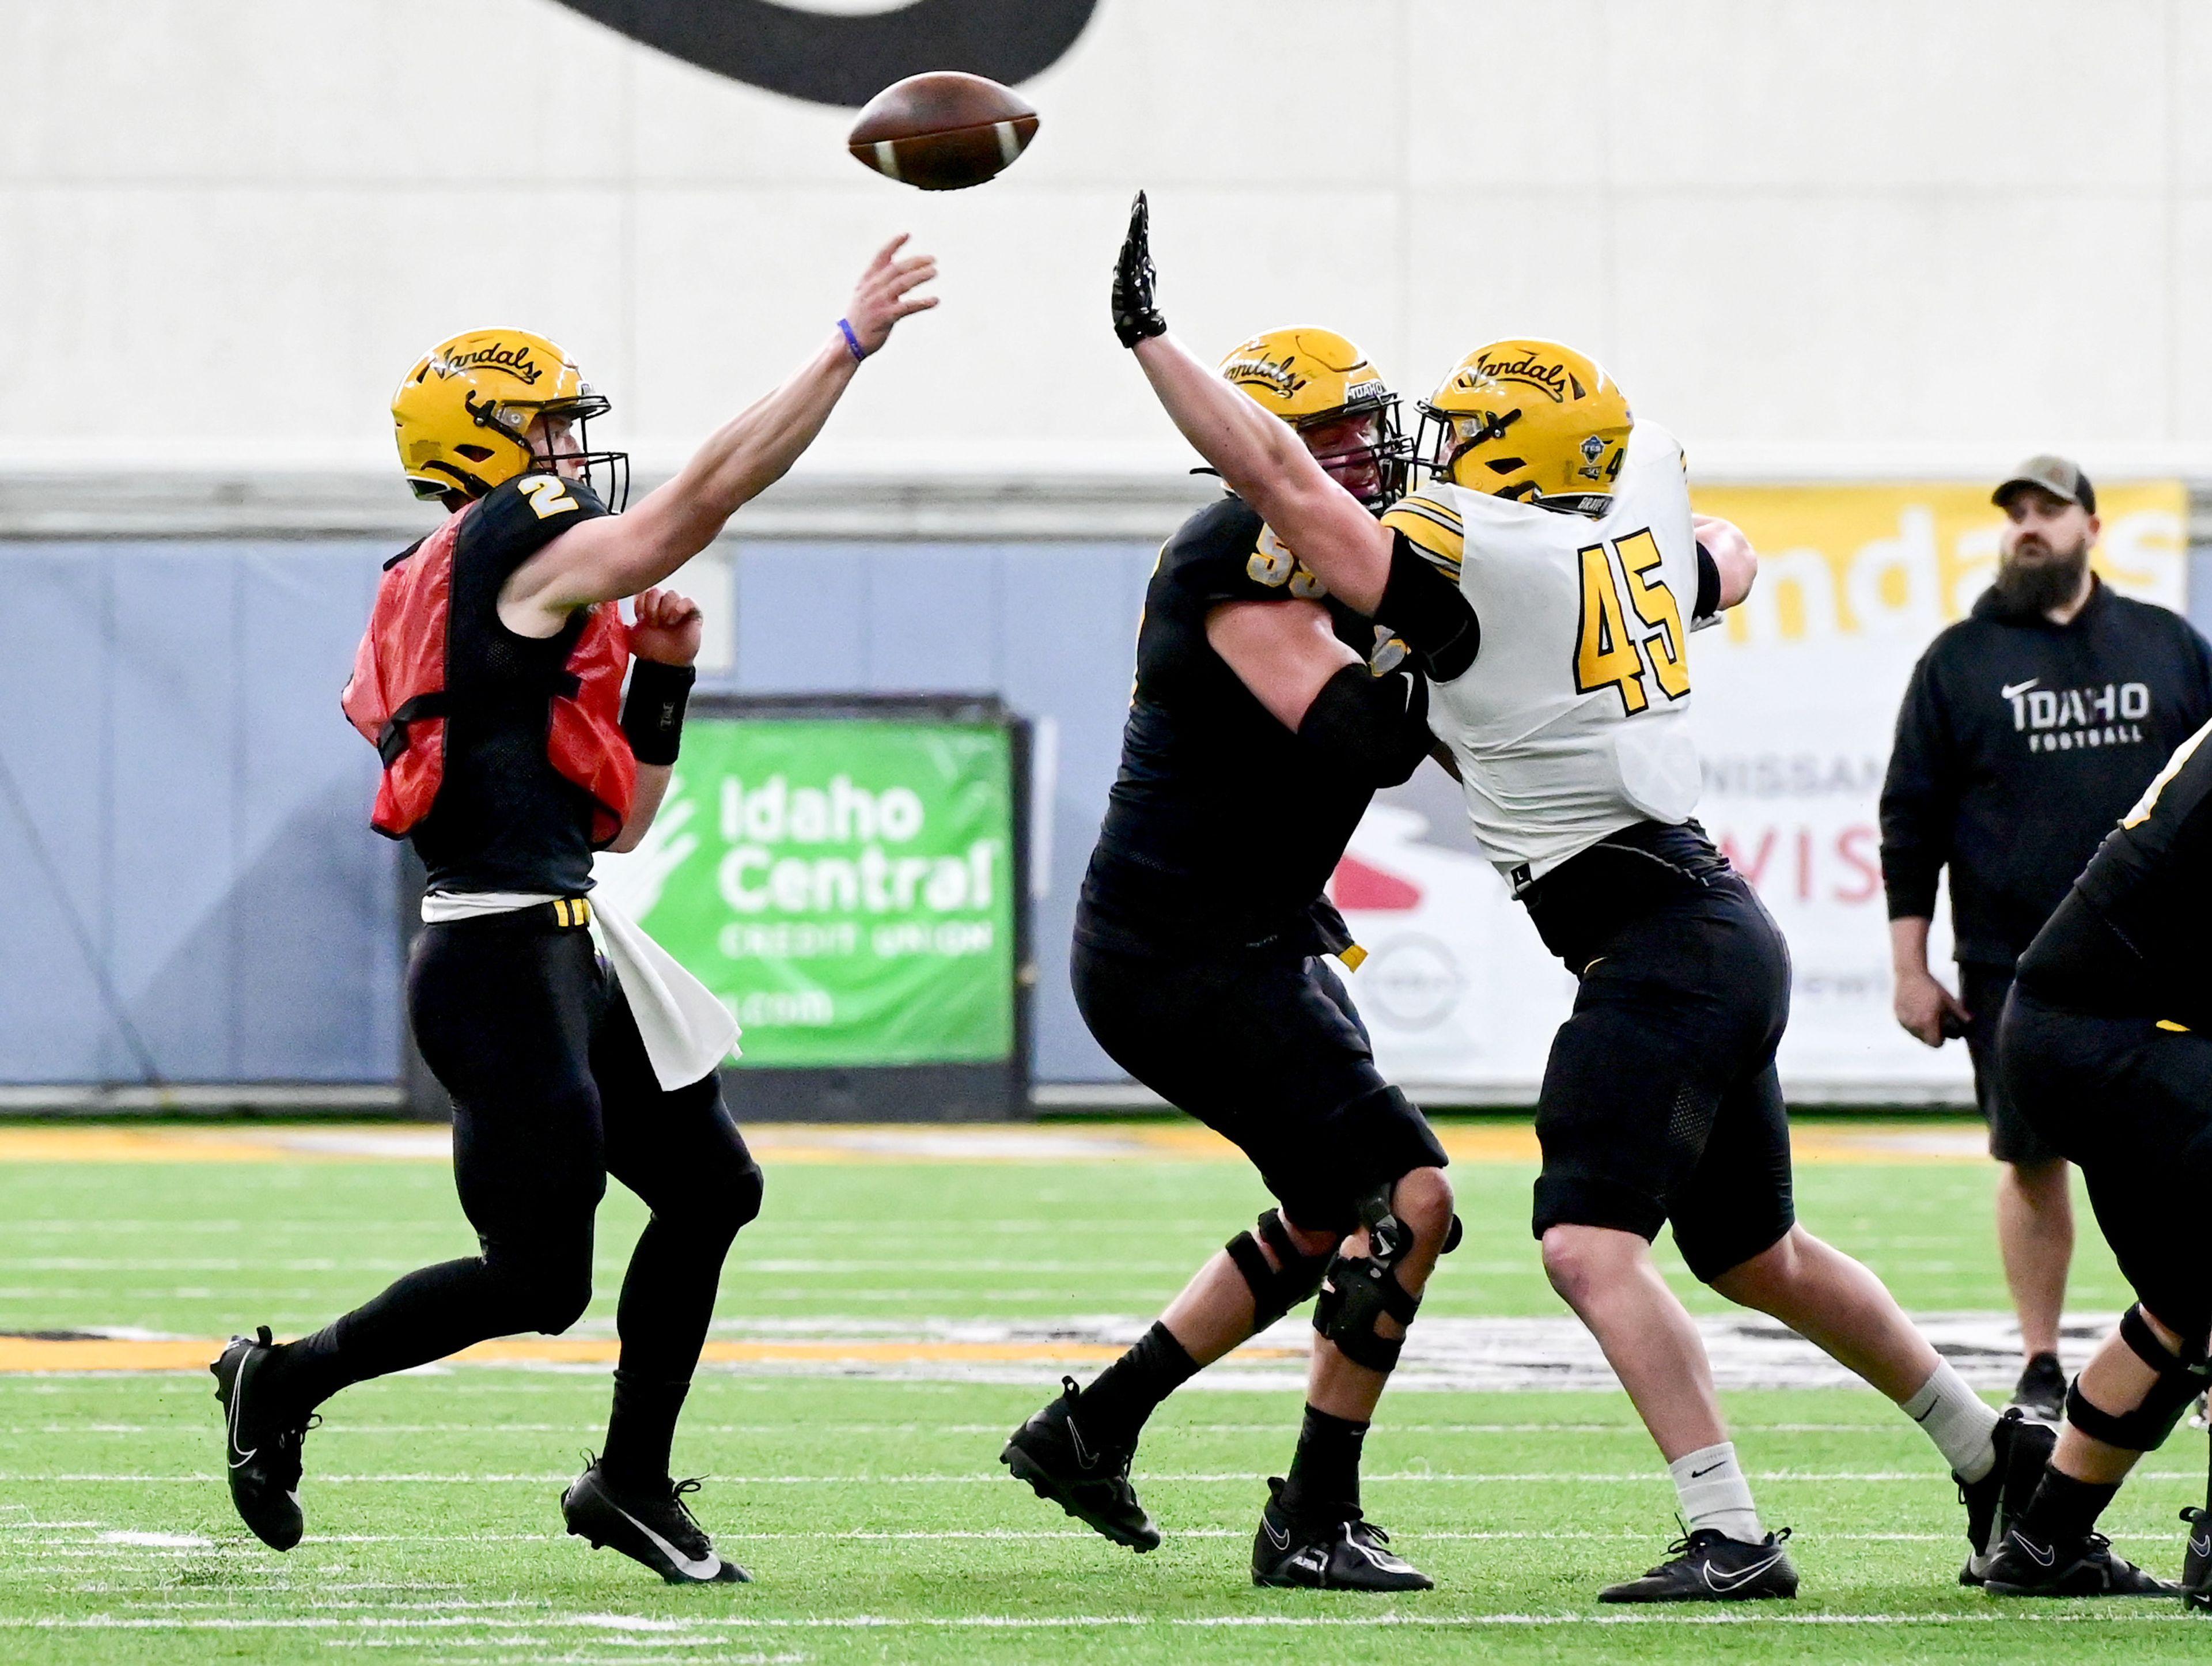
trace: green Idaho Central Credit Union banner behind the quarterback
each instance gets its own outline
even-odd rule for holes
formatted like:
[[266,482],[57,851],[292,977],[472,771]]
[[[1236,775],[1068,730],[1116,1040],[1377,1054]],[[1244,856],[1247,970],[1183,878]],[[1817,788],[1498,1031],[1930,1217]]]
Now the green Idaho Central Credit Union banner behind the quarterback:
[[633,863],[624,900],[737,1013],[748,1064],[1013,1051],[1004,728],[692,717]]

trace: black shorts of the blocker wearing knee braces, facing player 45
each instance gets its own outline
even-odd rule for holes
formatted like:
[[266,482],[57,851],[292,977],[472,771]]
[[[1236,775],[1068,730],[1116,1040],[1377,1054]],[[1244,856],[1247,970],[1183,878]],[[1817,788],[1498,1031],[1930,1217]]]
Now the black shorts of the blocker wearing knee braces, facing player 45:
[[1077,938],[1071,973],[1115,1064],[1234,1142],[1294,1226],[1349,1232],[1376,1186],[1444,1166],[1429,1120],[1376,1071],[1367,1027],[1318,958],[1168,958]]

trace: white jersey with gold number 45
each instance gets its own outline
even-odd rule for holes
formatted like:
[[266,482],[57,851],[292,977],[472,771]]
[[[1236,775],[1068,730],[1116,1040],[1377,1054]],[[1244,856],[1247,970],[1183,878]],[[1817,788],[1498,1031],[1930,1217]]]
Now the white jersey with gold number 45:
[[1431,688],[1429,726],[1515,892],[1619,827],[1690,816],[1697,538],[1670,434],[1635,425],[1604,520],[1449,482],[1383,520],[1460,582],[1482,622],[1475,664]]

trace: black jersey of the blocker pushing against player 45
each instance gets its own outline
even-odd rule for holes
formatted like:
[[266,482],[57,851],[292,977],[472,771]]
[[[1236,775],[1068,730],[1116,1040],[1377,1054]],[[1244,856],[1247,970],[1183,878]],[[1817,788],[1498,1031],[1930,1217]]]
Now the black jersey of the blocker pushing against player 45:
[[1327,589],[1228,496],[1159,551],[1137,631],[1137,688],[1077,931],[1119,949],[1352,943],[1323,887],[1374,796],[1301,741],[1206,639],[1223,602],[1310,600],[1374,668],[1402,648]]

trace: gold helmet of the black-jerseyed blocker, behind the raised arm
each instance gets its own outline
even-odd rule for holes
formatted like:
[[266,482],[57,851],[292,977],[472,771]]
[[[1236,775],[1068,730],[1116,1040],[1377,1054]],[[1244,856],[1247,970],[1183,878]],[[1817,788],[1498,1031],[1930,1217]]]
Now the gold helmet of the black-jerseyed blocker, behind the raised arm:
[[[1369,509],[1405,491],[1413,451],[1398,429],[1398,396],[1367,354],[1334,330],[1252,336],[1230,347],[1221,376],[1298,429],[1321,467]],[[1343,434],[1325,431],[1354,420],[1358,425]]]

